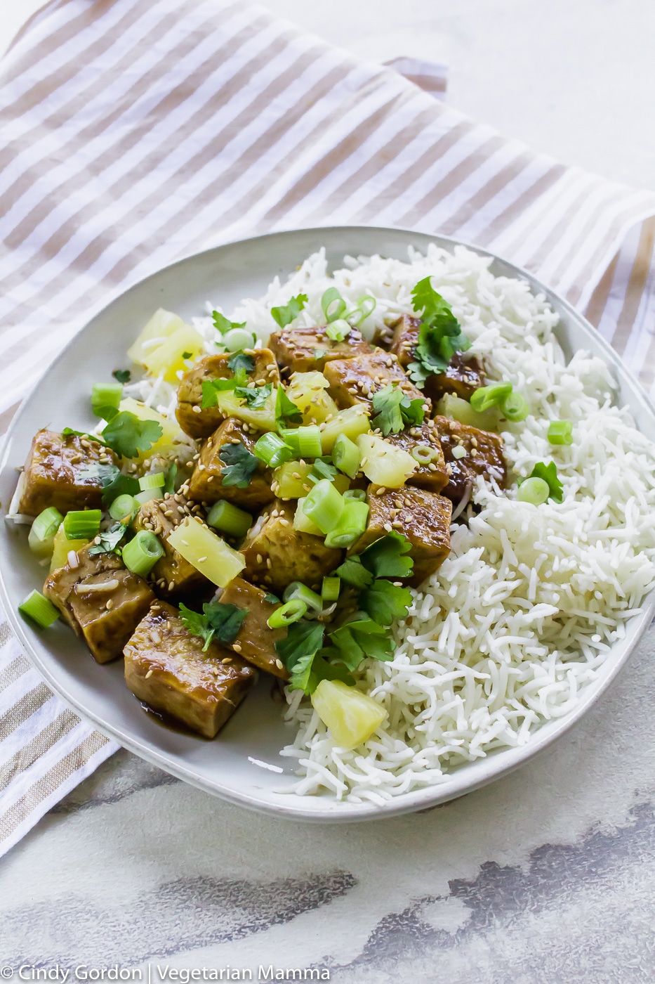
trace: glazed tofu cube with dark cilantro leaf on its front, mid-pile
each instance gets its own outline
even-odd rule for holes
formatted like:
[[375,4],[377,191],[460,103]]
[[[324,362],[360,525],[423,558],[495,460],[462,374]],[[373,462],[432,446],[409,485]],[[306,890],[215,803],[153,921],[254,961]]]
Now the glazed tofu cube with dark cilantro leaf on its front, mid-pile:
[[229,445],[242,444],[252,455],[257,439],[262,436],[259,433],[253,434],[246,427],[247,425],[244,426],[241,420],[228,417],[227,420],[223,420],[215,433],[208,437],[203,445],[200,460],[188,482],[189,495],[192,499],[197,502],[227,499],[235,506],[251,512],[259,512],[272,502],[275,498],[270,491],[272,473],[263,462],[260,462],[247,488],[223,484],[222,470],[226,467],[226,462],[220,459],[221,451]]

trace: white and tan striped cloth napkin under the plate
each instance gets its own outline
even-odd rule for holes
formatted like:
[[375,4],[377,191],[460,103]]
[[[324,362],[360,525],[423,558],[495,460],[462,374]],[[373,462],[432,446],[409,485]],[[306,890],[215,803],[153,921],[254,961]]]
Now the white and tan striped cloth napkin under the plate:
[[[560,290],[654,385],[655,195],[506,140],[244,0],[58,0],[3,62],[0,425],[113,296],[299,226],[442,232]],[[403,77],[404,76],[404,77]],[[2,645],[4,644],[4,645]],[[0,629],[0,854],[116,746]]]

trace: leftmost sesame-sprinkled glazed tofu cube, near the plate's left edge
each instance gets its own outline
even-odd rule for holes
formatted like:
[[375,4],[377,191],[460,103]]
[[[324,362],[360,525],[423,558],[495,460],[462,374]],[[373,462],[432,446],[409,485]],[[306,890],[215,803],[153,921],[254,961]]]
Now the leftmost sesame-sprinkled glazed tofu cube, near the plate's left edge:
[[[40,430],[31,442],[25,463],[23,495],[19,513],[38,516],[48,506],[60,513],[76,509],[99,509],[102,485],[92,465],[116,464],[114,453],[97,441],[55,431]],[[89,469],[90,474],[85,472]]]

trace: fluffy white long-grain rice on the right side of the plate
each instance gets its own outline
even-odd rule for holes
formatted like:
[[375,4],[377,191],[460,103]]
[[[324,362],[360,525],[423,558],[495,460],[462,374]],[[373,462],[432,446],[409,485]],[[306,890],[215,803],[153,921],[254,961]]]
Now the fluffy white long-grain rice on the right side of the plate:
[[[412,287],[431,275],[472,339],[471,354],[484,357],[492,379],[510,380],[531,408],[503,433],[506,492],[478,483],[478,511],[467,508],[468,524],[453,524],[450,556],[412,592],[409,617],[394,629],[392,662],[368,660],[356,674],[387,709],[376,734],[344,751],[304,695],[287,693],[296,737],[281,754],[297,760],[294,791],[383,803],[443,782],[495,749],[524,744],[541,723],[576,706],[655,584],[655,447],[613,405],[614,384],[600,359],[577,352],[566,365],[553,334],[557,316],[525,282],[493,277],[489,261],[463,248],[451,255],[432,246],[406,263],[344,262],[330,278],[325,253],[317,253],[230,317],[266,343],[276,327],[273,305],[304,292],[299,323],[321,324],[321,296],[335,284],[353,304],[365,293],[376,298],[362,326],[371,338],[392,316],[412,311]],[[215,351],[211,319],[195,324]],[[174,388],[162,381],[143,380],[126,392],[164,413],[175,406]],[[570,447],[548,443],[553,419],[572,421]],[[516,477],[551,460],[563,503],[517,502]]]

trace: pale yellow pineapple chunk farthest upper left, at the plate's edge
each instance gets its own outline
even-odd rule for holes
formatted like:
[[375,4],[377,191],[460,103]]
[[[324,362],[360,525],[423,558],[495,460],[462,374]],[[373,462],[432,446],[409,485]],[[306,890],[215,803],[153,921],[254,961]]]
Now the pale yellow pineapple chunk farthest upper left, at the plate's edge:
[[[154,344],[154,341],[157,344]],[[163,372],[168,383],[177,382],[177,373],[186,368],[183,355],[190,352],[188,358],[196,358],[204,347],[203,337],[190,325],[185,325],[181,318],[159,308],[150,318],[148,325],[141,333],[128,355],[135,362],[141,362],[150,373],[158,376]]]

